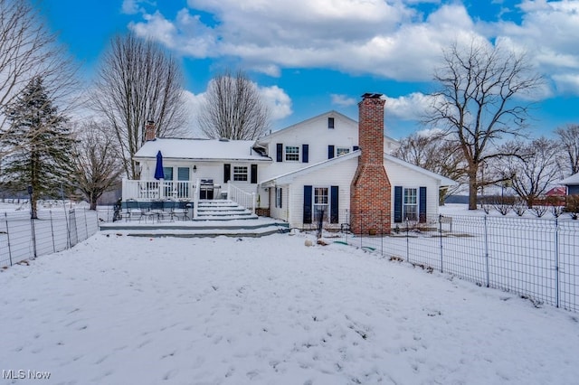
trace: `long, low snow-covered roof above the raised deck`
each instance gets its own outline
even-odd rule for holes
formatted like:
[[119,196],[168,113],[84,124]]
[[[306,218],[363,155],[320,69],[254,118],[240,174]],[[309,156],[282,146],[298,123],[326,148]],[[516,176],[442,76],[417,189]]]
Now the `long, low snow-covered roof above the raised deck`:
[[164,159],[271,161],[252,147],[253,140],[183,139],[159,137],[145,143],[135,154],[136,160],[154,159],[161,151]]

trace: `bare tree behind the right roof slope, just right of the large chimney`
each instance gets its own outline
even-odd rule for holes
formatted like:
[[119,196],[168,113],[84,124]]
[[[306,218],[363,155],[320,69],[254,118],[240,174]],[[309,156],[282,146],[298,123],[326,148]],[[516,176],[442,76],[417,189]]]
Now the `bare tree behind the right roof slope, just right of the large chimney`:
[[400,146],[393,155],[459,183],[451,188],[441,188],[439,204],[444,204],[446,197],[460,189],[460,182],[466,171],[464,158],[456,142],[448,140],[441,133],[429,136],[414,133],[407,136],[400,141]]

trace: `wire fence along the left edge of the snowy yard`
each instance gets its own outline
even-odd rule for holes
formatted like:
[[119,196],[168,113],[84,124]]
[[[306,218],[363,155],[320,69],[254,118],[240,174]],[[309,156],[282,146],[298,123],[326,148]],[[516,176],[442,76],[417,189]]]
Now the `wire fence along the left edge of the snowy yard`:
[[40,210],[0,213],[0,267],[70,249],[99,230],[96,211]]

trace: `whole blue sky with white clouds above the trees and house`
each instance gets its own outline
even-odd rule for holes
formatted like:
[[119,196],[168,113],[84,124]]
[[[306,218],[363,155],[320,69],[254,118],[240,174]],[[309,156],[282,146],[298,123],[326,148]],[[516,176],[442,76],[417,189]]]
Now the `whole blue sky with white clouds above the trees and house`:
[[115,33],[161,43],[183,64],[192,112],[207,83],[245,70],[271,106],[272,128],[331,109],[357,120],[365,92],[387,97],[386,135],[421,130],[441,50],[471,36],[525,50],[545,76],[533,135],[579,124],[579,0],[43,0],[90,84]]

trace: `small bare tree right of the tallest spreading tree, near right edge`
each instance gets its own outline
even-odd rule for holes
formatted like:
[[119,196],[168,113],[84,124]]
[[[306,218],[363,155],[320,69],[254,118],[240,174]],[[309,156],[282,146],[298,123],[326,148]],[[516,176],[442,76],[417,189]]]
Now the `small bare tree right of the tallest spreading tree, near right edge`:
[[556,144],[540,137],[525,145],[511,143],[504,147],[507,147],[505,153],[517,151],[519,155],[506,160],[507,174],[511,175],[510,187],[528,208],[532,208],[536,199],[558,179]]

